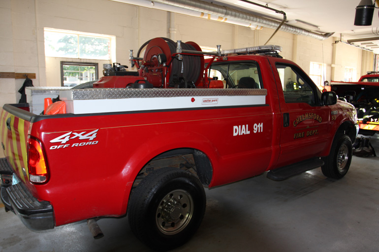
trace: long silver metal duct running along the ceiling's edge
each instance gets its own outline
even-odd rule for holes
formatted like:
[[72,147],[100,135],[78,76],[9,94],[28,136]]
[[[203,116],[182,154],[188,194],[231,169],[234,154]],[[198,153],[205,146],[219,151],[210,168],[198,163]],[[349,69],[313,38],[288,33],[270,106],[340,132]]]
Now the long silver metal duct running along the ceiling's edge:
[[[281,22],[259,17],[257,15],[253,15],[248,12],[240,11],[237,9],[232,9],[227,6],[221,6],[215,3],[206,2],[202,0],[152,0],[152,3],[161,3],[161,4],[167,4],[170,6],[180,7],[191,11],[198,11],[198,12],[204,12],[211,15],[220,16],[222,18],[226,18],[227,20],[235,20],[235,21],[241,21],[246,23],[252,23],[256,26],[262,26],[266,28],[272,28],[276,29],[280,26]],[[282,27],[280,27],[281,31],[289,32],[295,35],[303,35],[319,40],[324,40],[329,38],[331,35],[334,34],[334,32],[320,34],[316,33],[310,30],[293,27],[287,24],[283,24]]]

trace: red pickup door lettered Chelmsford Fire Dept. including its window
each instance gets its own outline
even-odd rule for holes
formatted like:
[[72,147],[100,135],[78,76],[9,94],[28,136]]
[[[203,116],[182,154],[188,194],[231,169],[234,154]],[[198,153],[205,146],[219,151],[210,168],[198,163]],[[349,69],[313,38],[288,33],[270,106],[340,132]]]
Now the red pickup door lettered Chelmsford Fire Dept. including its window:
[[284,59],[269,60],[283,120],[277,165],[316,157],[326,147],[330,109],[320,105],[320,90],[299,66]]

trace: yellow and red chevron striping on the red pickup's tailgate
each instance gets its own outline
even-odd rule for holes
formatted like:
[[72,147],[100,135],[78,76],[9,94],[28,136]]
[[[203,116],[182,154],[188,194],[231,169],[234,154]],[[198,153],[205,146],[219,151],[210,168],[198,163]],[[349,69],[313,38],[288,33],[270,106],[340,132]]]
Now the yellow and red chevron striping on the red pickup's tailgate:
[[[10,118],[10,129],[7,129],[6,121]],[[30,122],[18,118],[13,114],[2,110],[0,117],[1,142],[5,146],[5,156],[12,168],[17,171],[19,177],[25,181],[22,168],[28,174],[28,130]]]

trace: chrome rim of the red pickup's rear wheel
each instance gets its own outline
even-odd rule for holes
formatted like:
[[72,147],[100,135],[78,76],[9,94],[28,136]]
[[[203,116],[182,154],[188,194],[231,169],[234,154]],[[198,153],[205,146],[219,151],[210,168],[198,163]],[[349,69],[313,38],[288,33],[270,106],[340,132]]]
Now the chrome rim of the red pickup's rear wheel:
[[162,233],[173,235],[186,228],[192,215],[192,196],[187,191],[174,190],[160,201],[156,213],[156,224]]

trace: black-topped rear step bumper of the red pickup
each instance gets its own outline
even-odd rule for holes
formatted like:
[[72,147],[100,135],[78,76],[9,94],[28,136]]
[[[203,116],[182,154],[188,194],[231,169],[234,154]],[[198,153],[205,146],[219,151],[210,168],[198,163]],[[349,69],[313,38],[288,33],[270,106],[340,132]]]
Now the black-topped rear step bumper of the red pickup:
[[[9,178],[9,164],[5,158],[0,159],[0,178]],[[15,174],[12,174],[15,175]],[[54,228],[54,210],[48,201],[39,201],[32,196],[27,187],[20,182],[1,185],[1,201],[5,211],[11,210],[32,230]]]

